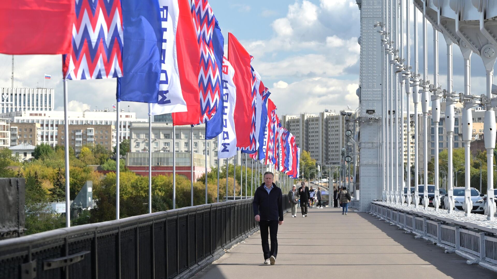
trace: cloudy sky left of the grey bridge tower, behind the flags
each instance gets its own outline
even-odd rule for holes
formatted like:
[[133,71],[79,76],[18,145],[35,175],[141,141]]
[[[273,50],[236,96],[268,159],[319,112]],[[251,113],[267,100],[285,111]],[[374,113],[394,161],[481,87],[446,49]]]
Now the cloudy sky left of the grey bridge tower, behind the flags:
[[[360,14],[354,0],[209,0],[228,45],[233,33],[254,57],[278,114],[355,109],[359,99]],[[124,46],[125,47],[125,46]],[[63,110],[62,56],[14,57],[14,87],[55,89]],[[10,87],[11,56],[0,54],[0,87]],[[69,110],[112,108],[116,79],[68,80]],[[144,103],[121,108],[147,117]]]

